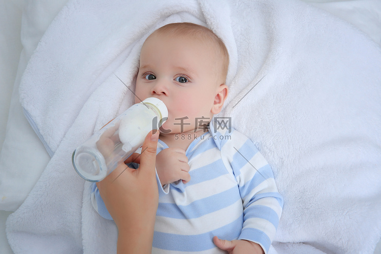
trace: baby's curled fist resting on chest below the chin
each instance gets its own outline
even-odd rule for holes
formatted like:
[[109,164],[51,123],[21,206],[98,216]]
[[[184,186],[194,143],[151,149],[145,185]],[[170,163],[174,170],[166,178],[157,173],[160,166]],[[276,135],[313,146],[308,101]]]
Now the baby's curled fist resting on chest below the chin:
[[156,155],[156,172],[162,185],[190,180],[188,158],[180,147],[164,149]]

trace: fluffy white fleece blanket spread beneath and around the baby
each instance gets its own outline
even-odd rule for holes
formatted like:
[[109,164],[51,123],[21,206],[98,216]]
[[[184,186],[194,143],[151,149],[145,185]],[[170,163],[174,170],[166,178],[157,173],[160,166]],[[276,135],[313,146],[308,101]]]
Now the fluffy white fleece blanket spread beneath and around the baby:
[[14,252],[116,251],[116,227],[92,209],[71,155],[132,105],[114,73],[133,89],[144,39],[180,21],[210,27],[229,50],[221,116],[255,142],[284,197],[270,252],[372,253],[381,237],[381,50],[297,0],[69,1],[20,84],[52,158],[8,218]]

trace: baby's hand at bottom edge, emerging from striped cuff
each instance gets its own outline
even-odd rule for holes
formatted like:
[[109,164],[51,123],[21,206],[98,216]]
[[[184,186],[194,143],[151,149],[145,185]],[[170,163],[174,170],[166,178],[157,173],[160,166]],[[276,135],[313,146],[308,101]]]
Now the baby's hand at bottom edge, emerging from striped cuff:
[[228,251],[229,254],[240,254],[240,253],[258,253],[264,254],[261,245],[255,242],[250,242],[246,240],[221,240],[218,237],[213,237],[214,244],[222,249]]

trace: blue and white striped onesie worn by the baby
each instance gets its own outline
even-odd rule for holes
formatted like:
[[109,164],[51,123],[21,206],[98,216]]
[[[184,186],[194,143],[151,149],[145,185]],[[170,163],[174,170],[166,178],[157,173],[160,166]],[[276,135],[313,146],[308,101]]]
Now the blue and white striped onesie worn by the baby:
[[[157,153],[166,148],[159,140]],[[189,145],[186,156],[191,180],[164,188],[159,184],[152,253],[225,253],[214,245],[213,236],[250,240],[267,253],[283,199],[254,144],[234,129],[214,130],[211,122],[209,132]],[[92,190],[94,208],[112,219],[95,183]]]

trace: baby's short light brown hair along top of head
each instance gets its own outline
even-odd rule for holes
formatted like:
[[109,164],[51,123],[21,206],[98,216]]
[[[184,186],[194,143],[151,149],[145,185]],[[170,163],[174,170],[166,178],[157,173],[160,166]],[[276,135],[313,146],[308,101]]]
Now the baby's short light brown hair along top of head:
[[205,40],[206,42],[211,42],[217,45],[219,53],[222,56],[222,75],[223,82],[226,82],[226,76],[228,74],[229,67],[229,53],[225,46],[223,40],[216,36],[211,29],[208,27],[194,24],[194,23],[170,23],[164,25],[153,32],[154,33],[176,33],[177,35],[190,36],[192,38],[197,37]]

